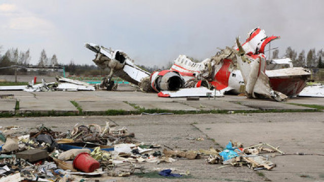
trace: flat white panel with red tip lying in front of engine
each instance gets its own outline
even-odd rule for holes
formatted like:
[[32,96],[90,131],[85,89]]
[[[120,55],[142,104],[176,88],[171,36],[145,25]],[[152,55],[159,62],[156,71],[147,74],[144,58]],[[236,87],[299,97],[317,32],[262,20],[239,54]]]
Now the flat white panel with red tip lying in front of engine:
[[[216,94],[216,95],[215,95]],[[224,93],[220,90],[210,90],[206,87],[198,87],[198,88],[181,88],[178,91],[172,92],[169,90],[163,90],[158,93],[158,97],[223,97]]]

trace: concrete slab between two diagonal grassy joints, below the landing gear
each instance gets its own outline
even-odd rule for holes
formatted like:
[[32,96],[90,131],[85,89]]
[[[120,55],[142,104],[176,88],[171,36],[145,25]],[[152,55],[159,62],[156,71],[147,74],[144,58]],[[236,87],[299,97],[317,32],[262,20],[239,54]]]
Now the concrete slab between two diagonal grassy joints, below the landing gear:
[[137,110],[122,101],[77,101],[76,103],[82,108],[82,111],[85,112],[102,112],[107,110]]

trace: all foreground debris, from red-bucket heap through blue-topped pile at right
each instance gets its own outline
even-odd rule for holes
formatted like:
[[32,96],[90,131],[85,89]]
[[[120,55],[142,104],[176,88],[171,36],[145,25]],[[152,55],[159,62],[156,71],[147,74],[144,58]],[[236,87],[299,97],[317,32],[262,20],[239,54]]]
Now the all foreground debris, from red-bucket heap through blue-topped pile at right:
[[[178,159],[206,159],[207,164],[248,166],[253,170],[271,170],[276,165],[268,153],[275,155],[320,155],[281,152],[277,147],[261,143],[243,147],[229,142],[224,150],[174,150],[168,146],[145,144],[135,140],[126,127],[117,128],[106,122],[75,124],[66,132],[53,131],[44,125],[36,131],[16,126],[0,127],[0,181],[86,181],[87,177],[130,176],[148,171],[166,177],[182,177],[190,172],[172,173],[173,168],[147,169],[146,163],[172,163]],[[204,141],[203,138],[187,138]],[[168,149],[167,149],[168,148]],[[274,153],[279,153],[275,154]]]

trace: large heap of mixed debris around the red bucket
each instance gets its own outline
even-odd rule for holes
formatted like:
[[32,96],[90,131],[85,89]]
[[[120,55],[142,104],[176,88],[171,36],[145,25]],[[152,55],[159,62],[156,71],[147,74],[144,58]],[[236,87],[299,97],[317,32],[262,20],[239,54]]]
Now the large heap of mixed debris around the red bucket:
[[[136,163],[170,163],[177,161],[172,157],[199,157],[194,151],[161,152],[160,145],[137,142],[135,133],[109,122],[105,127],[75,124],[67,132],[44,125],[32,132],[19,127],[1,129],[0,180],[84,181],[87,176],[129,176],[136,170],[145,172]],[[164,171],[163,175],[173,174]]]

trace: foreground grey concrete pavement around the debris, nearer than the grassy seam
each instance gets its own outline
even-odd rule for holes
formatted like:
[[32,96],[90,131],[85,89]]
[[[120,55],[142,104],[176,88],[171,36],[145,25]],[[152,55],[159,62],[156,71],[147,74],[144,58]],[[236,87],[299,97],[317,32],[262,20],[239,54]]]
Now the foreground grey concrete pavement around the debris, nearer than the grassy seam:
[[[268,142],[280,146],[284,152],[324,153],[324,113],[251,113],[251,114],[198,114],[161,116],[76,116],[0,118],[0,126],[18,125],[31,131],[44,123],[56,131],[71,129],[75,123],[96,123],[102,127],[106,121],[117,127],[126,126],[135,133],[139,142],[155,142],[173,149],[198,150],[224,147],[229,140],[245,146]],[[20,131],[14,131],[20,132]],[[187,138],[203,137],[204,141]],[[214,140],[208,140],[212,138]],[[164,148],[164,147],[163,147]],[[160,150],[163,150],[160,149]],[[323,156],[277,156],[270,158],[277,164],[271,171],[259,171],[265,176],[243,167],[219,168],[220,164],[206,164],[205,159],[179,159],[173,163],[139,163],[153,168],[189,170],[192,178],[174,181],[324,181]],[[307,177],[301,177],[301,176]],[[100,178],[100,181],[103,181]],[[90,178],[91,179],[91,178]],[[118,178],[117,181],[170,181],[163,178],[139,178],[136,175]]]

